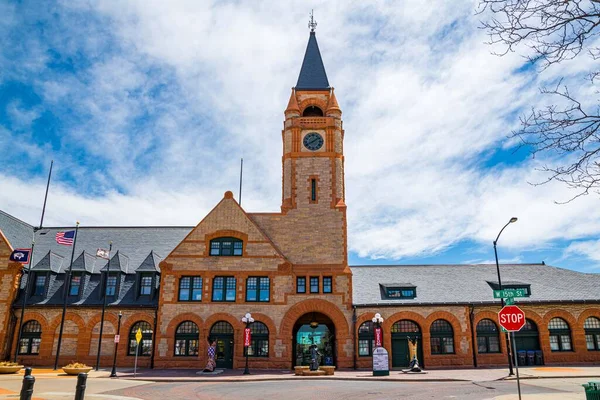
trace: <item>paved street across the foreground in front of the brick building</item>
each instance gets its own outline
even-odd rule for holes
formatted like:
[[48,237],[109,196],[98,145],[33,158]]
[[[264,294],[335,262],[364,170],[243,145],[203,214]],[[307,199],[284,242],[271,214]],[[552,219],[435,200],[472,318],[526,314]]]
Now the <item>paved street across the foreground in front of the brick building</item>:
[[[523,398],[585,399],[581,383],[586,379],[543,379],[522,382]],[[165,399],[260,399],[260,400],[386,400],[386,399],[512,399],[516,382],[364,382],[280,381],[240,383],[151,383],[105,392],[147,400]],[[512,396],[512,395],[515,396]],[[529,397],[528,397],[529,396]]]

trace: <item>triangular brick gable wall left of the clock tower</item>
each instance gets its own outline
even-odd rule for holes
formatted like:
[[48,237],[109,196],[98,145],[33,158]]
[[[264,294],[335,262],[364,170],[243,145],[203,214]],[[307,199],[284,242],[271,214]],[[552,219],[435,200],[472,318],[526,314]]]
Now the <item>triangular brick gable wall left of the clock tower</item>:
[[208,257],[210,241],[233,237],[244,242],[243,256],[284,258],[279,249],[233,199],[231,192],[183,239],[167,257]]

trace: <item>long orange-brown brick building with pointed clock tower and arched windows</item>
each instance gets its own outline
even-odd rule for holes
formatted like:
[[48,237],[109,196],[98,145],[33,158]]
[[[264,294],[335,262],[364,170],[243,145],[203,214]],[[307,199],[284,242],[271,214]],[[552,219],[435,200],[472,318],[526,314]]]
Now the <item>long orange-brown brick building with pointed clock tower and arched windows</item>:
[[[110,365],[119,312],[122,366],[138,351],[141,366],[201,369],[211,337],[217,366],[240,368],[248,312],[253,368],[306,364],[312,343],[323,363],[370,367],[376,312],[385,318],[392,367],[408,364],[408,335],[420,339],[426,368],[506,364],[495,266],[348,266],[342,111],[314,32],[284,115],[279,212],[247,212],[226,192],[194,227],[81,227],[71,266],[72,247],[57,245],[55,235],[72,228],[34,229],[0,211],[2,357],[18,352],[23,363],[53,364],[66,296],[60,364],[94,364],[102,340],[101,365]],[[32,238],[28,272],[8,256]],[[107,262],[95,252],[108,241]],[[527,293],[519,349],[541,352],[545,363],[600,361],[597,274],[538,264],[502,270],[505,283]]]

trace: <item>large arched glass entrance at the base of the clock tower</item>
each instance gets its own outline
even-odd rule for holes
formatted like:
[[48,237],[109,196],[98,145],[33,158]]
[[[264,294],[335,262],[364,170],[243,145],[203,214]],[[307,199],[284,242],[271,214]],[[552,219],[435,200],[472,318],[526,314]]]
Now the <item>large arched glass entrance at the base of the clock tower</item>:
[[294,351],[292,365],[310,364],[310,347],[317,346],[321,353],[320,365],[335,365],[335,325],[321,313],[307,313],[294,324]]

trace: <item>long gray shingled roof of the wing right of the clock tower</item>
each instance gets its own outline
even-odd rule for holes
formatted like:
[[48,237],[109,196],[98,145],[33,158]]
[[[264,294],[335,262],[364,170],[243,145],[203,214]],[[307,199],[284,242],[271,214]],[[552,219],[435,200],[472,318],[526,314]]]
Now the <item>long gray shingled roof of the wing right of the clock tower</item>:
[[[495,264],[484,265],[389,265],[351,266],[353,303],[384,304],[476,304],[498,302],[489,282],[497,282]],[[531,296],[517,303],[600,301],[600,274],[586,274],[544,264],[500,266],[503,283],[531,285]],[[382,298],[380,284],[411,282],[415,299]]]

